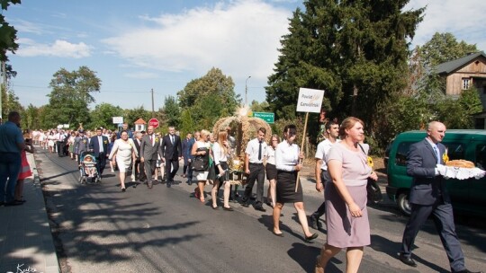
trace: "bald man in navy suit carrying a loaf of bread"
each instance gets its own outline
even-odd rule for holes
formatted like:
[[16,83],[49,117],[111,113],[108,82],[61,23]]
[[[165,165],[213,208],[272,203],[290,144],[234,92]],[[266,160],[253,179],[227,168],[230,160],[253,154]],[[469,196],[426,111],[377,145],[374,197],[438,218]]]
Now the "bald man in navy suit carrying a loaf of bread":
[[411,215],[403,232],[400,260],[410,267],[417,267],[411,258],[411,247],[420,227],[428,216],[434,216],[437,232],[446,249],[452,272],[471,272],[465,268],[464,254],[455,233],[451,198],[446,181],[439,174],[444,168],[446,146],[441,144],[446,136],[446,126],[438,121],[428,124],[427,137],[410,146],[407,158],[407,174],[413,177],[410,188]]

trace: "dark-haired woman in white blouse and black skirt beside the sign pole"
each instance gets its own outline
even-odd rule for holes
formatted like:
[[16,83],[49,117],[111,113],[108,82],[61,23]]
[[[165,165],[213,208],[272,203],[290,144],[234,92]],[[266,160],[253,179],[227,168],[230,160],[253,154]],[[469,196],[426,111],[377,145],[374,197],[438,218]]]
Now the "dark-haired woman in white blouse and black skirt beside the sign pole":
[[309,225],[307,224],[307,216],[303,206],[302,185],[295,190],[297,181],[297,172],[302,170],[303,153],[301,153],[299,146],[294,144],[297,128],[295,125],[287,125],[284,128],[284,141],[277,145],[275,149],[275,165],[277,169],[276,182],[276,204],[274,207],[274,234],[279,237],[284,237],[284,233],[280,231],[280,214],[284,203],[292,202],[293,207],[297,210],[299,221],[302,225],[302,230],[306,241],[314,240],[318,237],[318,233],[311,233]]

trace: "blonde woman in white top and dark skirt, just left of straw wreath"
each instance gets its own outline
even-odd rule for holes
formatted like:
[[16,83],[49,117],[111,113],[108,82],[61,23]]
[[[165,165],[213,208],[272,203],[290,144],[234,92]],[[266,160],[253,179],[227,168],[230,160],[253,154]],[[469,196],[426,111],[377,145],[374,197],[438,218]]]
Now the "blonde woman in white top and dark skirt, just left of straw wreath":
[[212,145],[212,154],[214,157],[214,165],[216,167],[216,173],[218,176],[212,184],[211,197],[212,197],[212,209],[218,209],[217,203],[217,191],[220,183],[224,186],[223,191],[223,209],[232,211],[233,208],[229,207],[229,166],[228,156],[231,154],[231,150],[228,145],[228,133],[226,131],[220,131],[218,133],[218,141]]

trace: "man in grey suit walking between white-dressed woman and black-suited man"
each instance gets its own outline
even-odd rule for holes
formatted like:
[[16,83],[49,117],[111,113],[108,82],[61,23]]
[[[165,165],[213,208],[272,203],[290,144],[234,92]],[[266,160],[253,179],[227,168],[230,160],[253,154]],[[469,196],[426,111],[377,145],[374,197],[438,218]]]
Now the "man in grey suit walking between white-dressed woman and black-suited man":
[[140,162],[144,163],[145,174],[147,176],[147,187],[152,189],[154,182],[153,174],[155,172],[157,157],[162,150],[160,149],[160,139],[154,134],[154,127],[147,128],[147,134],[142,137],[140,144]]

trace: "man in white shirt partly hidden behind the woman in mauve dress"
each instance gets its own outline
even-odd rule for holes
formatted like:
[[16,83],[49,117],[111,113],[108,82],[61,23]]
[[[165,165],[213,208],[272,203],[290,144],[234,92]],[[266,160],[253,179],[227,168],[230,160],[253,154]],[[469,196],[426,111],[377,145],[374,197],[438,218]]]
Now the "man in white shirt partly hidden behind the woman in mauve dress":
[[[334,121],[329,121],[326,124],[325,137],[323,141],[317,147],[316,158],[316,189],[319,192],[324,192],[325,183],[330,181],[328,172],[328,164],[326,163],[326,157],[329,154],[329,150],[332,145],[339,142],[339,125]],[[316,212],[311,214],[309,225],[314,229],[320,229],[319,218],[326,213],[326,202],[322,202]]]

